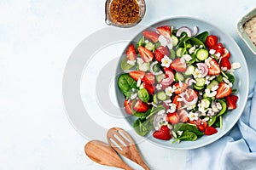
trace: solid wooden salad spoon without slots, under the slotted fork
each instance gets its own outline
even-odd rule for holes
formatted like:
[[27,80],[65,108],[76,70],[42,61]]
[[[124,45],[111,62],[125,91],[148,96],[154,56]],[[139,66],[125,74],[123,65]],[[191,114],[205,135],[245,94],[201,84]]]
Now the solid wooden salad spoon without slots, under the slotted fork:
[[92,161],[96,161],[99,164],[132,170],[111,146],[100,140],[91,140],[85,144],[84,151]]

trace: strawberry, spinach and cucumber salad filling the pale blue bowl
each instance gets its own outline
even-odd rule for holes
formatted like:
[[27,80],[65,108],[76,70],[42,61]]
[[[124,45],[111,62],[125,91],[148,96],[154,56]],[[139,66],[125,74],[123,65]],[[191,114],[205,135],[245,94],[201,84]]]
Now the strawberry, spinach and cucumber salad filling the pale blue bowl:
[[217,134],[239,100],[236,70],[220,37],[197,26],[157,26],[131,42],[117,79],[137,134],[196,141]]

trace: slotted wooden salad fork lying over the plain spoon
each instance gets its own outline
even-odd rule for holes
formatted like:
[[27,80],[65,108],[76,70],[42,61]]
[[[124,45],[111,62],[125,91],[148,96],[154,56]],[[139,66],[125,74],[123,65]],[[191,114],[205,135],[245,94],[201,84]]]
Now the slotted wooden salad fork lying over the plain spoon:
[[150,170],[143,161],[130,134],[126,133],[125,130],[119,127],[110,128],[107,133],[107,138],[108,144],[110,144],[120,155],[127,157],[131,161],[137,162],[137,164],[142,166],[145,170]]

